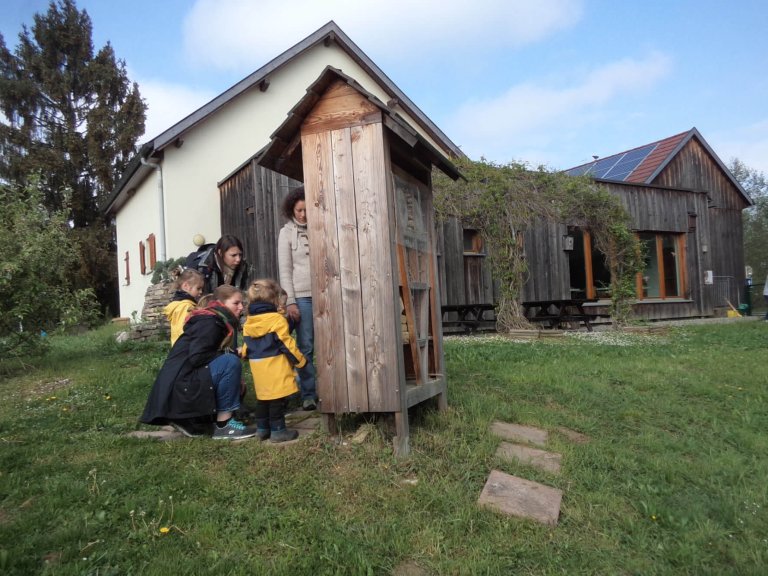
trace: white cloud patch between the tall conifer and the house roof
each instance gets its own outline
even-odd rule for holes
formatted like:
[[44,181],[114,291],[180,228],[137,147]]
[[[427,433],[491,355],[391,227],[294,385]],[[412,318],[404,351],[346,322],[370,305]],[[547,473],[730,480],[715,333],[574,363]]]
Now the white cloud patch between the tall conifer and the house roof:
[[183,120],[212,100],[216,94],[188,86],[153,80],[139,82],[141,96],[147,102],[147,120],[142,142],[147,142]]

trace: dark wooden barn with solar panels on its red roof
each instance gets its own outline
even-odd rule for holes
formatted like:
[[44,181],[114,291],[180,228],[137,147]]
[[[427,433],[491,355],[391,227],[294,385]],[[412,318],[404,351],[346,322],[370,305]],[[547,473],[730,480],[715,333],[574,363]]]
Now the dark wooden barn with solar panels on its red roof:
[[[645,247],[635,316],[712,316],[740,303],[744,284],[743,188],[695,128],[568,170],[592,175],[618,196]],[[589,230],[535,227],[526,235],[526,300],[597,299],[607,308],[610,274]],[[606,310],[602,310],[606,311]]]

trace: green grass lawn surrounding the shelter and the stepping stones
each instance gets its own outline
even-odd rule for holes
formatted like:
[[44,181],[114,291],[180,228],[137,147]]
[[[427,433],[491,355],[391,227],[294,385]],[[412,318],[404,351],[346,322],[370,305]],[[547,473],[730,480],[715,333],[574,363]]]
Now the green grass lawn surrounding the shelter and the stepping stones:
[[[0,363],[0,573],[768,573],[766,323],[446,340],[450,407],[411,414],[402,460],[376,428],[126,437],[166,345],[112,333]],[[552,434],[553,476],[498,460],[494,420],[589,442]],[[563,490],[559,525],[479,508],[492,469]]]

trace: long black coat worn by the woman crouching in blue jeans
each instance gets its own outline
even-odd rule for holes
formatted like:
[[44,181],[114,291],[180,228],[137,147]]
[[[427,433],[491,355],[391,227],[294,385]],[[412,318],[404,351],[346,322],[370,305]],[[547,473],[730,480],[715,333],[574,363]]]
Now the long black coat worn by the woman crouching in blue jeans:
[[147,398],[141,422],[216,415],[216,393],[208,364],[230,351],[237,319],[221,302],[189,314],[184,332],[173,345]]

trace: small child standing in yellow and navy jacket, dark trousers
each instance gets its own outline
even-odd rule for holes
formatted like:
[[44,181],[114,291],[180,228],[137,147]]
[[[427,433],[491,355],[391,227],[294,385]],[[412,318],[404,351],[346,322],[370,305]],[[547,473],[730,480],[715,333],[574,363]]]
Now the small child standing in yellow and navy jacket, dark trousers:
[[299,433],[285,426],[288,397],[298,392],[294,369],[307,360],[291,337],[288,320],[278,312],[281,288],[274,280],[256,280],[248,288],[248,318],[242,354],[248,358],[256,390],[256,428],[262,440],[286,442]]

